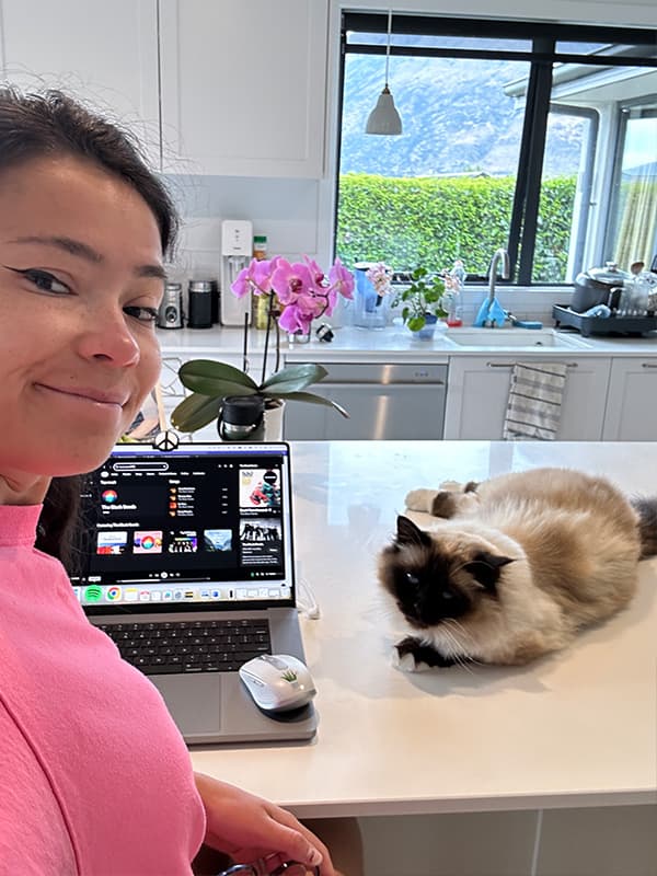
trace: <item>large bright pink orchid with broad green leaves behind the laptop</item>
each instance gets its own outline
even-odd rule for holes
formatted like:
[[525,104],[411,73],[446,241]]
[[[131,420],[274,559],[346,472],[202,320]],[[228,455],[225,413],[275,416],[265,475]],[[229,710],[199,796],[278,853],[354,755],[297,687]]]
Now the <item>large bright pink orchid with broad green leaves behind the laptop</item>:
[[[244,325],[244,368],[240,371],[231,365],[209,359],[195,359],[185,362],[178,369],[183,385],[192,390],[192,394],[182,401],[171,415],[174,428],[181,431],[196,431],[214,419],[218,425],[224,399],[235,395],[261,395],[265,400],[265,408],[279,404],[281,400],[311,402],[335,408],[348,417],[348,413],[331,399],[304,392],[307,387],[318,383],[326,377],[326,369],[320,365],[289,365],[278,369],[279,343],[276,330],[276,365],[274,373],[266,376],[269,331],[276,313],[277,326],[286,332],[309,333],[314,319],[331,315],[339,296],[351,298],[354,277],[339,258],[328,272],[328,277],[316,262],[304,256],[303,262],[290,264],[283,256],[267,261],[253,260],[249,267],[240,272],[231,290],[239,298],[253,293],[268,296],[269,308],[263,371],[260,382],[246,373],[247,325]],[[275,296],[283,310],[275,310]]]

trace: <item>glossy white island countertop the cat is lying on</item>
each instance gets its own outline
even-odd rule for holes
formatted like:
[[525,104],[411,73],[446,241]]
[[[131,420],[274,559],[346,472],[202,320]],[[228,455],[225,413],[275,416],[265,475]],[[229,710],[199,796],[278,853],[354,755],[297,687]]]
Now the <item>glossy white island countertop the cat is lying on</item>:
[[318,817],[657,802],[657,558],[627,610],[525,668],[392,668],[374,577],[410,488],[555,464],[657,494],[656,447],[292,445],[297,556],[321,608],[302,622],[319,733],[195,750],[195,768]]

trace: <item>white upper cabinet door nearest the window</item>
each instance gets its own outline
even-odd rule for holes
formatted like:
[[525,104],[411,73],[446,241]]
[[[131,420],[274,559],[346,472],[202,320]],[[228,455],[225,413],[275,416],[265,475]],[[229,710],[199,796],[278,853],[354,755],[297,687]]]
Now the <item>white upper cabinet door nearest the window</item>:
[[160,0],[172,173],[322,175],[327,0]]

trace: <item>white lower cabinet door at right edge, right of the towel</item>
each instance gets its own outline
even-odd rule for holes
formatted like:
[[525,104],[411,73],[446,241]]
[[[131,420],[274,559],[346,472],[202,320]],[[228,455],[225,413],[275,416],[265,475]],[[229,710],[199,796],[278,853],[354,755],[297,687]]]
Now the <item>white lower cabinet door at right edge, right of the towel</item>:
[[602,439],[657,440],[657,357],[613,359]]

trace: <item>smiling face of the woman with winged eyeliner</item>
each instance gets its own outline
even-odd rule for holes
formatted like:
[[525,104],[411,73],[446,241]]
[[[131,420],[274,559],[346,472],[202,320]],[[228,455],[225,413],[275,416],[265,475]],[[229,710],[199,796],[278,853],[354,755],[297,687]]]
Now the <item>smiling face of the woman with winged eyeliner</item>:
[[73,158],[0,174],[0,475],[90,471],[160,372],[154,216]]

